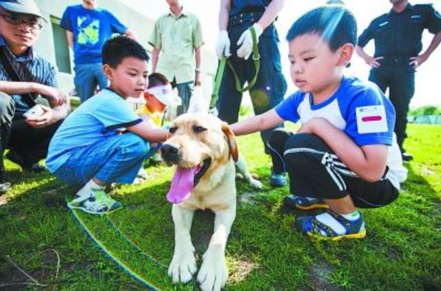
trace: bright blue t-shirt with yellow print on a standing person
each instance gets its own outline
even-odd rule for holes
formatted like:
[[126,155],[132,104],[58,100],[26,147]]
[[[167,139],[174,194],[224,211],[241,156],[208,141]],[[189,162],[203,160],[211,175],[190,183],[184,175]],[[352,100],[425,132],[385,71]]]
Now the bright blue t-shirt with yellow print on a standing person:
[[101,50],[114,33],[123,34],[127,27],[105,9],[68,6],[60,26],[74,34],[74,63],[101,63]]

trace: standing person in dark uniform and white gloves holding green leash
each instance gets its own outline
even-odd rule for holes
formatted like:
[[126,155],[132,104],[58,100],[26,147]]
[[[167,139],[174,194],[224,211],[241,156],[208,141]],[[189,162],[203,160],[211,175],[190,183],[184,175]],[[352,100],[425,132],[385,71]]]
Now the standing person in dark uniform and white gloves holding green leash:
[[[240,85],[248,83],[256,74],[252,54],[253,41],[249,28],[256,31],[258,51],[260,54],[260,70],[256,83],[250,89],[254,107],[254,114],[263,114],[272,109],[287,91],[287,83],[282,74],[280,52],[278,50],[278,33],[274,20],[283,8],[283,0],[222,0],[219,12],[219,36],[216,44],[216,54],[230,56],[229,61],[236,70]],[[230,53],[230,45],[231,52]],[[219,99],[216,105],[218,117],[228,123],[238,120],[242,93],[237,91],[235,77],[232,69],[225,67],[222,83],[219,89]],[[276,125],[280,127],[280,125]],[[265,147],[269,153],[267,142],[272,127],[260,133]],[[271,172],[271,186],[284,186],[287,184],[285,173]]]

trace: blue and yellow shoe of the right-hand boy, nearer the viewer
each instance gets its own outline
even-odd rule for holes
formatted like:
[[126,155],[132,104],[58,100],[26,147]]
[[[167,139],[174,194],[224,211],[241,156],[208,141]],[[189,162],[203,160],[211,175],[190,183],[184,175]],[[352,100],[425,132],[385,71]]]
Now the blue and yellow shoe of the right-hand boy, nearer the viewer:
[[341,239],[362,239],[366,236],[365,221],[360,214],[355,220],[349,220],[334,211],[326,211],[320,215],[330,215],[335,223],[344,229],[344,233],[337,233],[331,226],[320,222],[315,216],[298,217],[294,228],[304,235],[320,240],[340,241]]

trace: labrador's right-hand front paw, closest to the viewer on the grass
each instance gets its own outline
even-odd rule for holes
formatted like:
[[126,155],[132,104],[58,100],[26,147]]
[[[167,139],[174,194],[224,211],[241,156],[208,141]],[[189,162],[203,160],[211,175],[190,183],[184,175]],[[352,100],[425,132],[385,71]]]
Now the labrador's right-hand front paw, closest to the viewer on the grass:
[[201,290],[220,290],[227,282],[227,274],[224,252],[217,249],[207,250],[198,273]]

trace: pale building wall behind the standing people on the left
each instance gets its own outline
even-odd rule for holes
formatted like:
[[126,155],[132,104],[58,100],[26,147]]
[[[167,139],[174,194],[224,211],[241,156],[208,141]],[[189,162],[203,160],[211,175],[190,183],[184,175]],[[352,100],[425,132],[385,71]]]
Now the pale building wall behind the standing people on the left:
[[[52,24],[50,23],[51,17],[61,19],[63,12],[67,6],[76,5],[81,3],[80,0],[36,0],[41,12],[48,23],[43,25],[41,30],[40,38],[34,45],[36,51],[40,56],[43,56],[48,61],[56,64],[55,50],[54,47],[54,32],[52,30]],[[148,45],[147,39],[152,32],[154,19],[148,15],[141,14],[136,10],[126,6],[123,1],[119,0],[106,0],[99,1],[99,6],[105,8],[115,14],[115,16],[127,27],[129,27],[138,36],[139,42],[144,45],[148,51],[152,51],[152,47]],[[71,60],[71,74],[59,72],[57,79],[59,80],[59,85],[64,91],[70,92],[74,89],[73,82],[73,55],[70,50],[70,60]],[[216,72],[217,59],[214,53],[203,50],[203,91],[204,94],[209,96],[212,90],[213,76]]]

